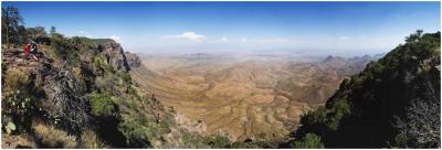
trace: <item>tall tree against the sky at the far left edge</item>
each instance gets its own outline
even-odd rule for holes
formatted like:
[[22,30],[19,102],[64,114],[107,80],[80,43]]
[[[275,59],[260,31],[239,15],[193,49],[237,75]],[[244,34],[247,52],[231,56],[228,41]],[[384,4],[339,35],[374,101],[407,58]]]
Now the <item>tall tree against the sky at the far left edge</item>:
[[[23,23],[23,18],[20,15],[19,9],[15,7],[1,8],[1,25],[2,25],[2,41],[10,47],[11,36],[18,39],[18,28]],[[6,38],[6,39],[3,39]]]

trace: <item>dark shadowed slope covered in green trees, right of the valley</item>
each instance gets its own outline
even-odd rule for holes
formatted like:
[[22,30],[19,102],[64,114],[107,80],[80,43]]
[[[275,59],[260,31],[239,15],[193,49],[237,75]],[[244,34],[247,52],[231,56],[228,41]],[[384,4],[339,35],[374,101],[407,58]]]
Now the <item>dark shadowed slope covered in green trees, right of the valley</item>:
[[296,148],[440,148],[441,34],[407,38],[302,117]]

